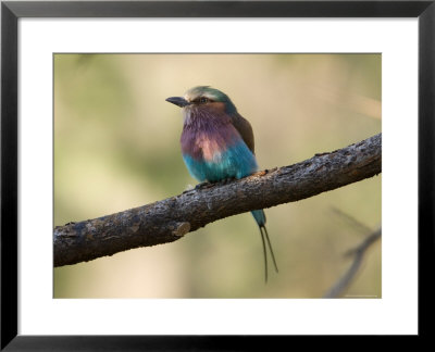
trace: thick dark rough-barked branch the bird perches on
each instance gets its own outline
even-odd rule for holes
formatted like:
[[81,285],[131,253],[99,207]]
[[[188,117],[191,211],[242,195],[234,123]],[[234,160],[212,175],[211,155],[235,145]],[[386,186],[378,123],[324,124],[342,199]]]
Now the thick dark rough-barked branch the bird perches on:
[[54,266],[172,242],[220,218],[333,190],[381,173],[382,135],[112,215],[54,228]]

